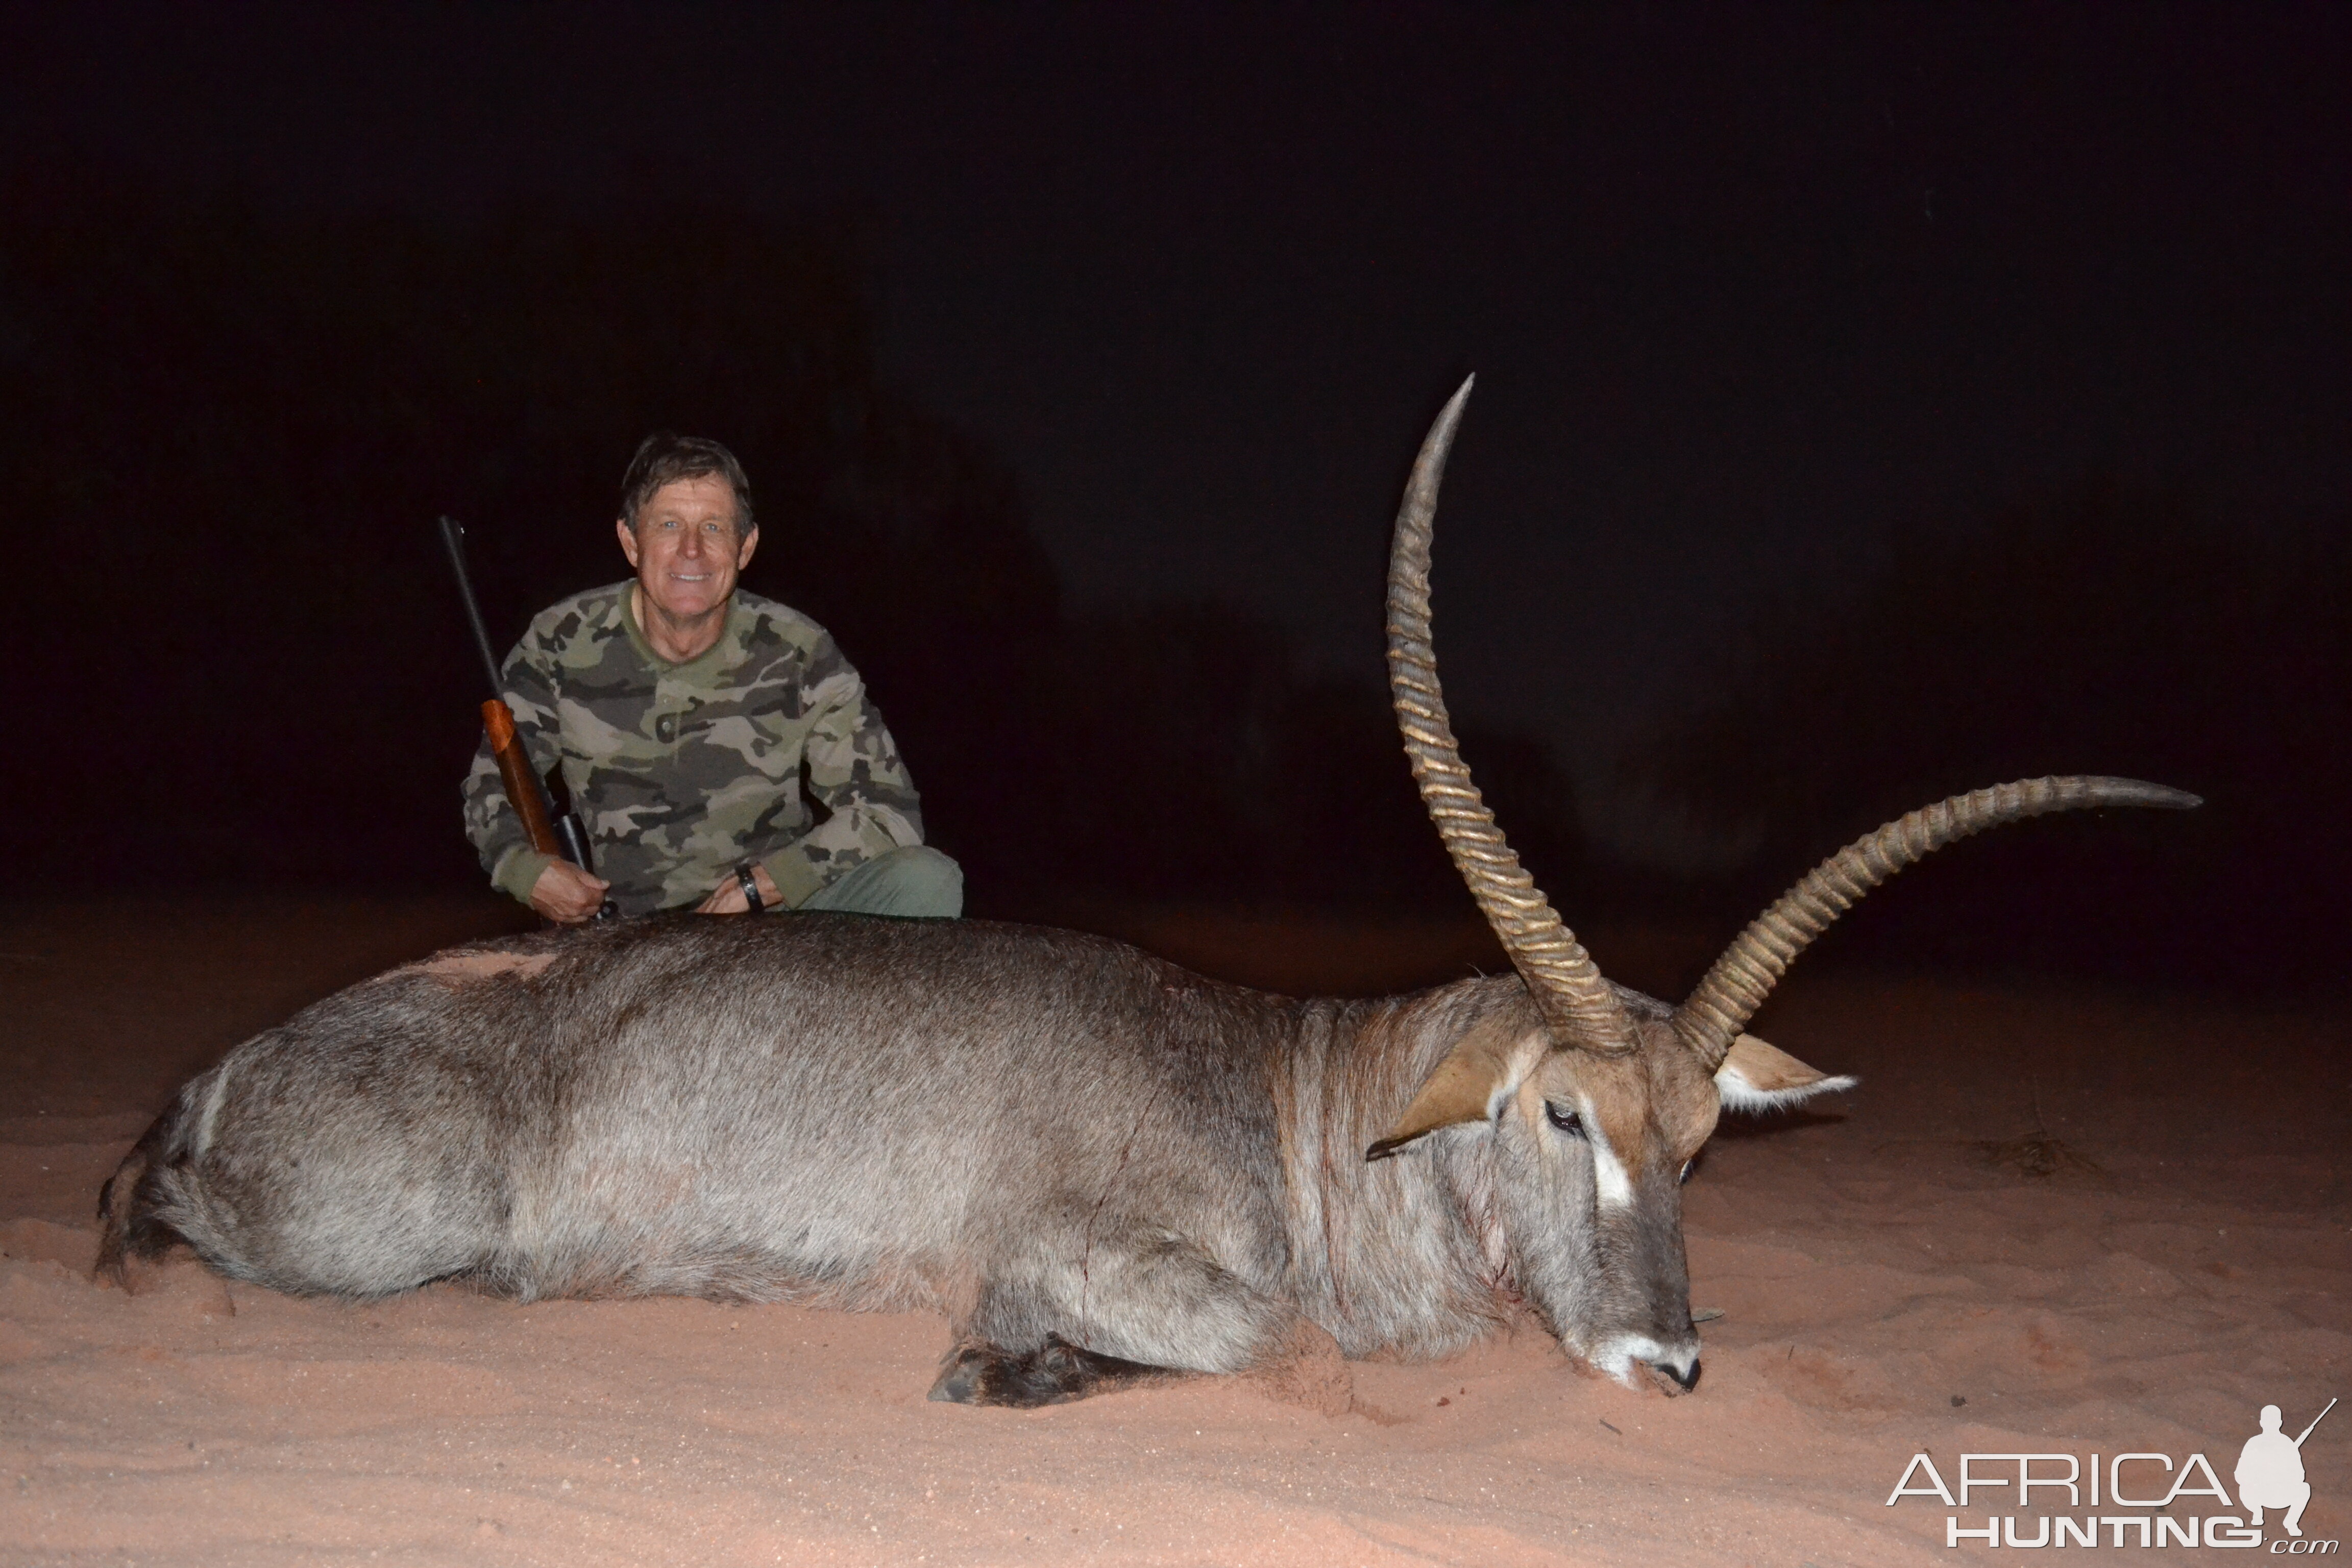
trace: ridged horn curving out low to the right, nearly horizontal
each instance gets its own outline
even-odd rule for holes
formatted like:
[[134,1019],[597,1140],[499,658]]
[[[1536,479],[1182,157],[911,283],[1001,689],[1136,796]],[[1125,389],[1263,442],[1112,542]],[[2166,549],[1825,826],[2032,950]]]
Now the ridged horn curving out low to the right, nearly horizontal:
[[2079,806],[2187,811],[2201,804],[2187,790],[2140,778],[2060,776],[2020,778],[1900,816],[1839,849],[1757,914],[1724,950],[1724,957],[1715,959],[1715,969],[1698,983],[1689,1001],[1675,1009],[1675,1030],[1698,1051],[1708,1072],[1715,1072],[1724,1063],[1724,1053],[1731,1051],[1731,1041],[1764,1006],[1764,997],[1788,973],[1790,961],[1816,936],[1860,903],[1863,893],[1952,839],[2044,811],[2074,811]]

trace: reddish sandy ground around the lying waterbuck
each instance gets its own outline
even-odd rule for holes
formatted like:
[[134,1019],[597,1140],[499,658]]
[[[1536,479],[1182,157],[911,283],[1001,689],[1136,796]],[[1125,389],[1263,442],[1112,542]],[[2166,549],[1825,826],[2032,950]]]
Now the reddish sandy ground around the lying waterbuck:
[[[1693,1305],[1722,1316],[1691,1399],[1522,1331],[1357,1363],[1343,1415],[1232,1380],[969,1410],[924,1401],[948,1342],[929,1314],[454,1288],[360,1309],[193,1262],[139,1298],[89,1281],[96,1185],[181,1077],[506,919],[0,919],[0,1563],[2018,1561],[1955,1559],[1933,1497],[1886,1507],[1910,1455],[1957,1479],[1962,1453],[2204,1453],[2227,1481],[2263,1403],[2296,1432],[2352,1392],[2340,1013],[1828,966],[1799,966],[1759,1032],[1865,1086],[1705,1157]],[[1367,952],[1425,964],[1406,936],[1157,926],[1171,957],[1305,985],[1376,978]],[[1477,947],[1416,952],[1444,940]],[[2303,1528],[2336,1540],[2352,1410],[2303,1455]],[[2013,1514],[2032,1540],[2051,1512],[2136,1514],[1990,1497],[1962,1523]]]

